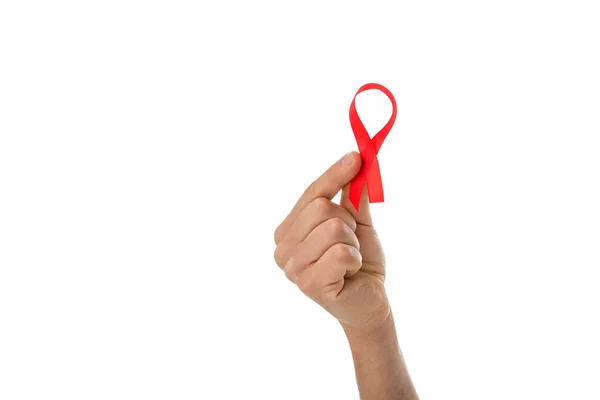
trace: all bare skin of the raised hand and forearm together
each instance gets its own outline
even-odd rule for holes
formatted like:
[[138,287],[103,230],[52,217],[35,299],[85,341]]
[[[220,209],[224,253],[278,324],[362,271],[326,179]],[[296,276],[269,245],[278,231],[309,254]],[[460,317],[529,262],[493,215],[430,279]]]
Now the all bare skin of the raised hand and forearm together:
[[[385,257],[363,189],[348,199],[361,159],[352,152],[300,197],[275,230],[275,261],[286,277],[341,324],[362,400],[418,399],[386,295]],[[340,204],[331,199],[342,191]]]

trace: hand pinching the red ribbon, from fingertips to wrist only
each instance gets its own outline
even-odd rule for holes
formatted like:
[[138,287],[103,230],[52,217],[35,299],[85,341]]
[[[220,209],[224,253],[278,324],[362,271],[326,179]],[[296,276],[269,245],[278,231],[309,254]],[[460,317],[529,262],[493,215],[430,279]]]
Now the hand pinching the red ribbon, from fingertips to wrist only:
[[[348,199],[361,158],[349,153],[314,181],[275,231],[275,261],[302,292],[345,329],[371,331],[390,315],[383,249],[367,191]],[[331,201],[342,190],[340,204]]]

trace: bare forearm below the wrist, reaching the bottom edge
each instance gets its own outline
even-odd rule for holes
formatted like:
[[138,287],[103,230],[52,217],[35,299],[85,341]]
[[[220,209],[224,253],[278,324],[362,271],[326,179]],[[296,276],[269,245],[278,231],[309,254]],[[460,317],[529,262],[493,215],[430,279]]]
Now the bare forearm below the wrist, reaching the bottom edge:
[[362,400],[415,400],[417,393],[406,369],[394,326],[389,317],[371,332],[344,326],[358,390]]

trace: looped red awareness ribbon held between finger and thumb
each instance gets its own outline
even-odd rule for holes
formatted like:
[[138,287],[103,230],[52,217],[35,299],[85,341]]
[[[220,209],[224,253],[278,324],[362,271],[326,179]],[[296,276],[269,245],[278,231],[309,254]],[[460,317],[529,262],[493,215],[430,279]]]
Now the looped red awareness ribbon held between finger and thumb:
[[[383,92],[392,102],[392,116],[379,132],[371,138],[364,124],[360,120],[356,112],[354,104],[356,96],[366,90],[376,89]],[[377,161],[377,153],[385,140],[385,137],[390,133],[394,122],[396,121],[396,99],[387,88],[377,83],[367,83],[361,86],[350,104],[350,126],[354,132],[356,143],[360,157],[362,158],[362,166],[358,175],[350,183],[349,198],[356,211],[360,203],[360,195],[362,193],[365,182],[367,183],[367,191],[369,193],[369,203],[381,203],[383,201],[383,184],[381,182],[381,172],[379,171],[379,162]]]

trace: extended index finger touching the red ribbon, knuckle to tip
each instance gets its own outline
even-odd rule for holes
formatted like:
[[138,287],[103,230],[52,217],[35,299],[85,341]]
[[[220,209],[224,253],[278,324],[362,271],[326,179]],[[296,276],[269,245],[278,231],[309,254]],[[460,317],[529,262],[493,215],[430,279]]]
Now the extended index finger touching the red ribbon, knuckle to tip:
[[361,159],[358,153],[350,152],[333,164],[317,180],[308,186],[288,216],[275,230],[275,243],[287,234],[292,223],[311,201],[319,197],[331,200],[348,182],[358,174]]

